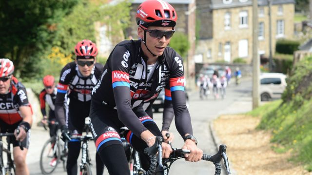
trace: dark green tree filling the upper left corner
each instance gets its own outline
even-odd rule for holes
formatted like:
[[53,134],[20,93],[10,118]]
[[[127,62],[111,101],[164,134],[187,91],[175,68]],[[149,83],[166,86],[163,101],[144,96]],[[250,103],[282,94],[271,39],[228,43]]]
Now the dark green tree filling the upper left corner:
[[0,0],[0,57],[10,58],[21,77],[40,71],[34,56],[47,44],[46,33],[56,15],[62,18],[77,1]]

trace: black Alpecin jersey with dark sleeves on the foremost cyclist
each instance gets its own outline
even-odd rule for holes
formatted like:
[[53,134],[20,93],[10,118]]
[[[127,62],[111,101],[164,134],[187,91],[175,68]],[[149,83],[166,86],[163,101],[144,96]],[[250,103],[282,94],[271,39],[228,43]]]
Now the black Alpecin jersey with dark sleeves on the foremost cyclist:
[[144,100],[157,96],[169,78],[176,128],[181,136],[192,134],[191,118],[185,104],[182,58],[172,48],[166,47],[163,55],[158,57],[156,69],[148,81],[147,67],[147,57],[141,51],[141,40],[120,42],[109,56],[92,91],[92,102],[117,109],[119,120],[139,137],[147,129],[132,109]]

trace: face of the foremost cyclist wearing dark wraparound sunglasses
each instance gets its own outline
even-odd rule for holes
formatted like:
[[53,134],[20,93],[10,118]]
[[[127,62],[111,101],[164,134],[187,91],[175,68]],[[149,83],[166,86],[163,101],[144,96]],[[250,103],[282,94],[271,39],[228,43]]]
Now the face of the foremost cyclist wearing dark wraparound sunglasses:
[[[150,26],[148,27],[148,30],[160,30],[160,31],[172,31],[172,27],[156,27],[156,26]],[[144,38],[144,30],[139,27],[138,28],[138,35],[140,38]],[[167,37],[168,38],[168,37]],[[156,38],[151,36],[150,32],[146,31],[146,45],[150,51],[155,54],[156,56],[161,56],[167,47],[167,45],[170,42],[170,39],[167,39],[165,36],[162,36],[161,38]],[[145,46],[143,46],[144,51]],[[144,51],[144,54],[151,55],[150,52]]]

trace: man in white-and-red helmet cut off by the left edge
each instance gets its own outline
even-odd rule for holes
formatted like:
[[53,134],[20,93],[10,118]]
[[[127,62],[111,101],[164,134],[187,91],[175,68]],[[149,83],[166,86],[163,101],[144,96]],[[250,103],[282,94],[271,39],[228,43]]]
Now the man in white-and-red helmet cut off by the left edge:
[[[13,156],[17,175],[29,175],[26,154],[29,147],[30,126],[33,122],[32,108],[25,87],[13,76],[14,65],[10,59],[0,59],[0,131],[13,133]],[[19,128],[20,134],[16,129]],[[18,141],[21,141],[19,147]]]

